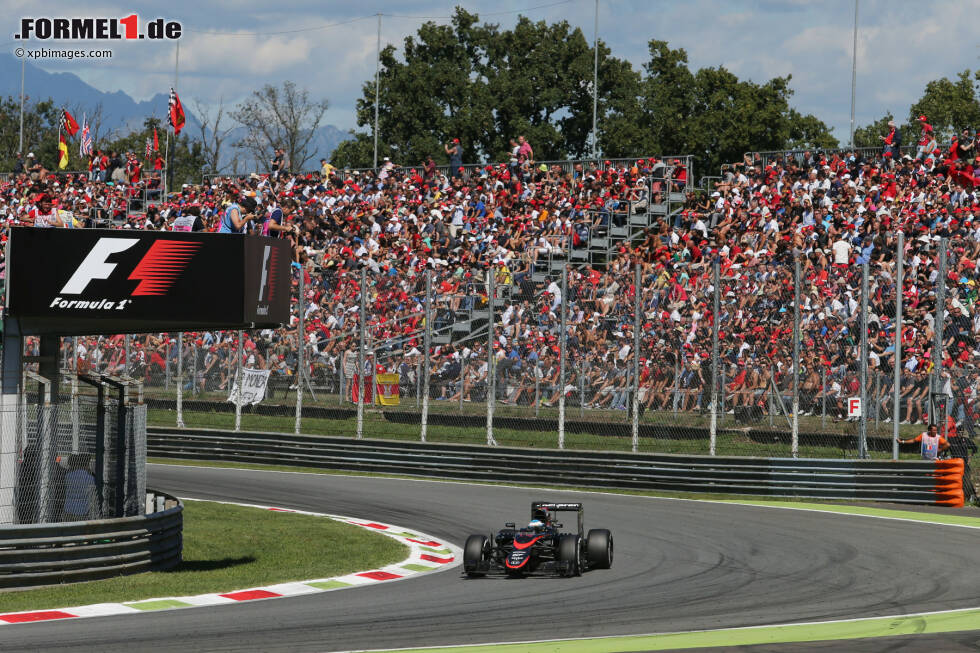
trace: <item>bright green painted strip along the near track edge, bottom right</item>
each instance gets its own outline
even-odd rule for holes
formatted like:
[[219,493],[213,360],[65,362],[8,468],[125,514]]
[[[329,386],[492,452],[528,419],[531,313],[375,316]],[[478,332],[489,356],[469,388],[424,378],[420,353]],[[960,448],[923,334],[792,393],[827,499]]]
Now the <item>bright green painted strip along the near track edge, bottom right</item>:
[[[791,644],[831,640],[894,637],[976,630],[980,609],[959,610],[902,617],[876,617],[854,621],[723,628],[665,635],[603,637],[597,639],[527,642],[521,644],[488,644],[429,649],[408,649],[415,653],[605,653],[608,651],[666,651],[715,646],[752,646],[756,644]],[[405,649],[403,649],[405,650]]]

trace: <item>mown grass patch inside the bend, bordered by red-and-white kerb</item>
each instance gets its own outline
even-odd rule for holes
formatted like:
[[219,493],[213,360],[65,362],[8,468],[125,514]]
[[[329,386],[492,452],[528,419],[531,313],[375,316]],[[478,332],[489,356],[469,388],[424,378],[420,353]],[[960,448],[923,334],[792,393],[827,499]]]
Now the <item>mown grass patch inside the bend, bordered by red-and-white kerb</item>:
[[408,547],[390,537],[324,517],[186,501],[176,569],[0,592],[0,612],[229,592],[341,576],[407,556]]

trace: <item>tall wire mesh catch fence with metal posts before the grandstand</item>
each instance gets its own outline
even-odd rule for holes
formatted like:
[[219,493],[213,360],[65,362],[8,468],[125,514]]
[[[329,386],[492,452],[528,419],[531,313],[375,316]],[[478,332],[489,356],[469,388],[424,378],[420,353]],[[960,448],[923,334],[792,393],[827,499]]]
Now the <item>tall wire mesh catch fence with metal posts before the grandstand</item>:
[[969,458],[976,286],[946,287],[961,263],[946,240],[920,247],[904,279],[903,243],[880,249],[838,265],[755,243],[722,265],[624,247],[602,271],[569,263],[543,281],[499,260],[294,270],[302,317],[289,328],[65,339],[65,359],[143,380],[161,426],[897,458],[918,456],[897,438],[937,421]]

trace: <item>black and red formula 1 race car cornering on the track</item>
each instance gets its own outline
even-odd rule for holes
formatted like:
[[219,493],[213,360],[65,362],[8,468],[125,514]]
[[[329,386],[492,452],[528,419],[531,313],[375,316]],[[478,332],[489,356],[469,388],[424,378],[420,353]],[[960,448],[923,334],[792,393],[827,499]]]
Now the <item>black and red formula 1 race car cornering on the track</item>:
[[[566,511],[578,513],[577,532],[562,532],[563,525],[555,522],[556,513]],[[470,578],[491,572],[519,578],[545,571],[579,576],[590,569],[609,569],[612,556],[612,533],[594,528],[585,535],[581,503],[535,501],[526,528],[509,522],[496,535],[470,535],[463,548],[463,571]]]

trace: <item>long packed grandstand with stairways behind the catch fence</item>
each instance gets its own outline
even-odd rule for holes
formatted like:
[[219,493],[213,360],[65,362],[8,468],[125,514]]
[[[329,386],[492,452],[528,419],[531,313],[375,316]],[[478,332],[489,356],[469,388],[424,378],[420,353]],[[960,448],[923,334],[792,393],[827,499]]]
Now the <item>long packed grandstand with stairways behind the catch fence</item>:
[[[719,176],[702,177],[702,188],[692,184],[691,156],[466,166],[458,178],[390,162],[329,176],[209,177],[127,226],[167,229],[199,211],[205,228],[216,229],[224,203],[254,195],[261,230],[270,210],[298,201],[286,220],[296,229],[286,237],[295,244],[294,282],[302,274],[306,288],[294,315],[304,317],[309,379],[296,377],[295,322],[246,332],[241,341],[236,333],[185,334],[182,346],[177,334],[81,338],[66,341],[66,351],[77,350],[67,359],[144,378],[160,407],[173,405],[179,386],[191,412],[227,406],[222,393],[239,362],[269,369],[271,392],[246,411],[246,426],[260,414],[290,415],[287,392],[301,385],[315,394],[307,392],[307,411],[341,411],[337,419],[321,412],[308,421],[319,432],[349,433],[341,413],[353,405],[360,368],[400,374],[401,405],[369,409],[365,435],[377,427],[382,435],[417,437],[418,426],[404,426],[414,420],[458,427],[439,437],[479,441],[492,413],[514,442],[536,446],[554,446],[554,436],[542,434],[558,424],[581,434],[569,446],[628,447],[632,426],[641,449],[705,450],[710,428],[722,451],[788,454],[793,426],[793,453],[854,455],[858,424],[848,419],[847,402],[862,395],[865,378],[872,455],[891,452],[896,414],[908,423],[902,433],[911,434],[942,409],[972,438],[980,198],[978,164],[961,145],[750,153]],[[89,180],[49,190],[70,203],[73,189],[93,186],[98,194],[98,182]],[[15,199],[25,187],[24,179],[2,186],[0,212],[10,224],[35,208]],[[896,377],[899,231],[905,280]],[[859,337],[864,283],[866,356]],[[944,320],[938,338],[937,309]],[[362,326],[367,352],[357,347]],[[428,406],[420,397],[426,378]],[[562,397],[568,410],[559,415]]]

